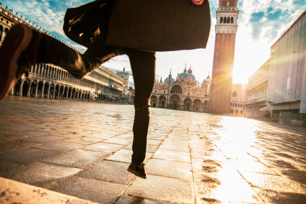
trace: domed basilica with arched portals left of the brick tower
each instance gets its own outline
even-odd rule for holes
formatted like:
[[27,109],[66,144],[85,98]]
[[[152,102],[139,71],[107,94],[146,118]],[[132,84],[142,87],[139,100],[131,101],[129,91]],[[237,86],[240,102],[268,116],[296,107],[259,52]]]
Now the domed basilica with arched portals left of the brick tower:
[[174,110],[207,112],[210,77],[199,84],[192,74],[191,67],[182,73],[177,73],[175,80],[171,71],[164,81],[156,79],[151,94],[151,107],[168,108]]

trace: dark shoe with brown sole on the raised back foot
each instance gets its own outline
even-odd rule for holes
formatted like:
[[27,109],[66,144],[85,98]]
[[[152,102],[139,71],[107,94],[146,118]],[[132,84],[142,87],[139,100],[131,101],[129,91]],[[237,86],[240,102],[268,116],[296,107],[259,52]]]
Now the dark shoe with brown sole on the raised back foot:
[[[0,100],[7,96],[16,80],[29,71],[29,65],[37,57],[40,39],[41,34],[34,37],[32,29],[21,23],[14,25],[8,32],[0,48]],[[33,45],[30,44],[31,40],[35,42]],[[21,60],[20,64],[21,58],[25,60]]]

